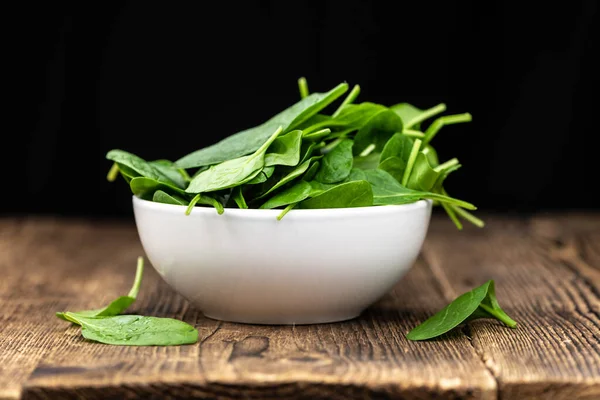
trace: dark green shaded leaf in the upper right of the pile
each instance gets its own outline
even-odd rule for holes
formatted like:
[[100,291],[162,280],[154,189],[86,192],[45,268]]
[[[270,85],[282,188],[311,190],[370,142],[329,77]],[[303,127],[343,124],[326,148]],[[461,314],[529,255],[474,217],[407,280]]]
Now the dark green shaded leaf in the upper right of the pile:
[[396,132],[402,132],[402,120],[387,107],[380,106],[354,137],[354,155],[360,155],[367,147],[375,145],[375,151],[381,152],[387,141]]

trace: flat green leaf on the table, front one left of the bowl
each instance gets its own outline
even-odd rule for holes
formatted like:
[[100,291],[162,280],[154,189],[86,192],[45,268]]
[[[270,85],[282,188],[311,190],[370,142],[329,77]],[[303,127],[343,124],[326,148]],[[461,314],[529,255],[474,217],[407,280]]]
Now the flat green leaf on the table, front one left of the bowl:
[[84,338],[96,342],[122,346],[175,346],[198,341],[193,326],[176,319],[117,315],[87,317],[66,312],[68,321],[81,326]]

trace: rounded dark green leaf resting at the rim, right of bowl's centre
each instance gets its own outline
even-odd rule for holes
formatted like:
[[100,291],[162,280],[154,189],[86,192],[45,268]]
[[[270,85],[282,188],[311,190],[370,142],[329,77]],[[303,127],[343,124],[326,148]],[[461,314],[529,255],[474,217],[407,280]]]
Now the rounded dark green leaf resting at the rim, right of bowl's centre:
[[301,208],[349,208],[373,205],[369,182],[345,182],[300,203]]

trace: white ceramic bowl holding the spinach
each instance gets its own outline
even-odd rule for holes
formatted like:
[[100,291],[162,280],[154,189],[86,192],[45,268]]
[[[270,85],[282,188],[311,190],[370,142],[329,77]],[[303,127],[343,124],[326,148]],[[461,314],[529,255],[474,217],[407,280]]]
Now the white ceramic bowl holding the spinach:
[[144,251],[209,318],[312,324],[358,316],[414,264],[431,201],[292,210],[195,207],[133,197]]

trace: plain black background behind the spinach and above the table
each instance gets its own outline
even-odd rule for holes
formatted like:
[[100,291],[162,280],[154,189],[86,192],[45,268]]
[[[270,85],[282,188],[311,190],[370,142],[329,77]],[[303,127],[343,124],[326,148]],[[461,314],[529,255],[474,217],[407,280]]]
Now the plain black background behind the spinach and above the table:
[[10,18],[3,214],[129,217],[108,150],[177,159],[296,102],[300,76],[470,112],[434,144],[481,210],[600,207],[595,1],[43,4]]

